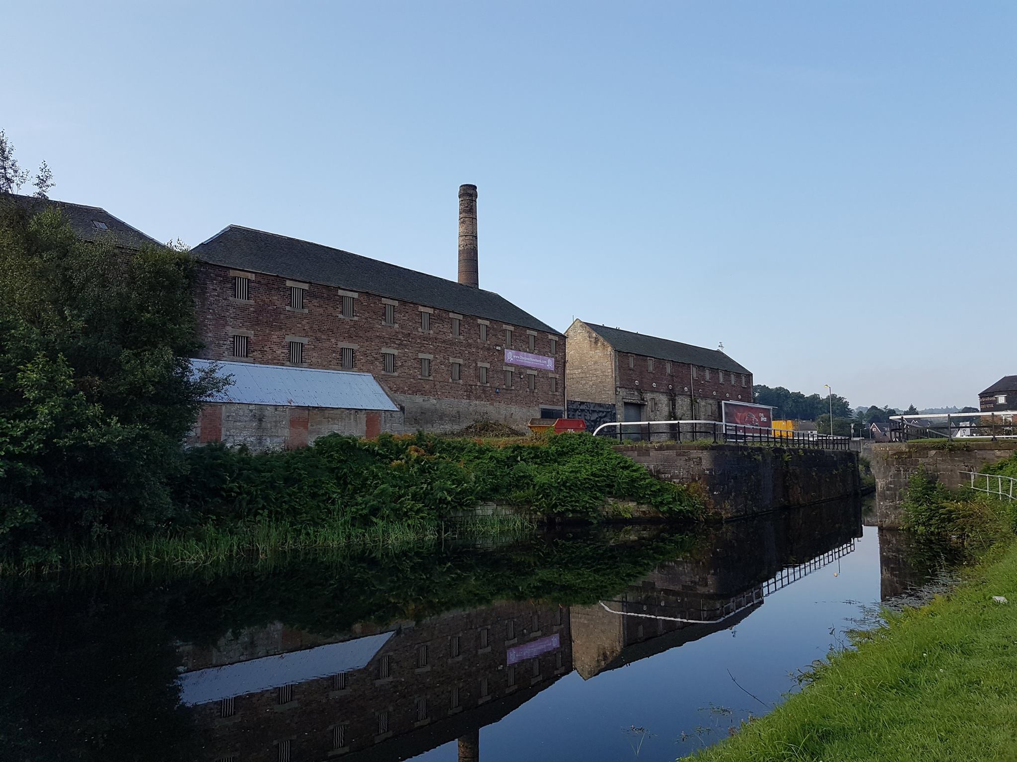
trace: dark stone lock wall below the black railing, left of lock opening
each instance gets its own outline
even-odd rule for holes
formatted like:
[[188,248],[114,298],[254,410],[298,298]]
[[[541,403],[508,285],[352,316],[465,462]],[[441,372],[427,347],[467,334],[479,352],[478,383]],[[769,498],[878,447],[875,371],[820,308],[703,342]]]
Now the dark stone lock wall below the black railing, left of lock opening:
[[723,519],[860,493],[850,451],[656,442],[615,449],[659,479],[699,485],[709,512]]

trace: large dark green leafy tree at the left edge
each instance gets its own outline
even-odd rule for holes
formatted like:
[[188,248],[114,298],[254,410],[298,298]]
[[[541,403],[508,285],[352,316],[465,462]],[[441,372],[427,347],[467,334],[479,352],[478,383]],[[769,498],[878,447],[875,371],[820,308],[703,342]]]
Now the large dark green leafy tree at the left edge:
[[186,252],[79,241],[0,194],[0,552],[153,526],[201,398]]

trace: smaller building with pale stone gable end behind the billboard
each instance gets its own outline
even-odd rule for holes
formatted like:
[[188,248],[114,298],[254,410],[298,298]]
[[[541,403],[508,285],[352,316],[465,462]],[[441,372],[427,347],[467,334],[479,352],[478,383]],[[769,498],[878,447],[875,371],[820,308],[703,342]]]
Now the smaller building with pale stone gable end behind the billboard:
[[565,331],[569,417],[720,421],[721,402],[752,402],[753,374],[719,350],[576,320]]

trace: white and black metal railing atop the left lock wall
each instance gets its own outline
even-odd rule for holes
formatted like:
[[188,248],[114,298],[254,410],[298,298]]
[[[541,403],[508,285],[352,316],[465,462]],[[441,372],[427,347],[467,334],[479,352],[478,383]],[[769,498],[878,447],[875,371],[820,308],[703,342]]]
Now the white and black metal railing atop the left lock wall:
[[720,421],[615,421],[601,424],[595,437],[619,442],[712,442],[714,444],[801,447],[817,450],[855,449],[850,437],[817,432],[785,431],[762,426],[725,424]]

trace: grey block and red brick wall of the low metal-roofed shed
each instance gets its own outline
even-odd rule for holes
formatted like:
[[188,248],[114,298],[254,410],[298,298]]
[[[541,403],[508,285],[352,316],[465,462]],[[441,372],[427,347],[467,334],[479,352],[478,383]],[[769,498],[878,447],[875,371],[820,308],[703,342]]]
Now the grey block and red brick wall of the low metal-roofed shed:
[[304,447],[325,434],[376,437],[403,433],[398,410],[353,410],[225,402],[206,404],[185,444],[246,445],[255,452]]

